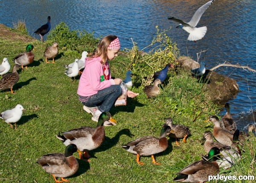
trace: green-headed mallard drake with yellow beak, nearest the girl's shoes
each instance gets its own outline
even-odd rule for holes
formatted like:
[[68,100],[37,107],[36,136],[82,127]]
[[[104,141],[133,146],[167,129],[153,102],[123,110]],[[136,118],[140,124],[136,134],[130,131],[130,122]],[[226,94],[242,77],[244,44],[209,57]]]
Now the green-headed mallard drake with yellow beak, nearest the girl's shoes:
[[75,128],[70,131],[62,132],[62,135],[56,135],[64,145],[75,144],[78,148],[79,157],[83,160],[83,157],[89,159],[88,151],[98,148],[105,139],[104,122],[111,122],[116,125],[116,120],[112,118],[111,113],[103,112],[99,116],[98,124],[96,128],[89,126]]

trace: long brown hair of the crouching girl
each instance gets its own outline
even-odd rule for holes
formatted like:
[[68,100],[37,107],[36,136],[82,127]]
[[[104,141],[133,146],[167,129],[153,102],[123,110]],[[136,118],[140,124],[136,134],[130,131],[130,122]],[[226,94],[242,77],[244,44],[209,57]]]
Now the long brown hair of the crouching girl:
[[105,64],[108,59],[108,46],[111,44],[112,41],[114,41],[117,38],[116,35],[107,35],[104,38],[102,38],[101,41],[99,41],[99,44],[97,46],[97,49],[93,51],[93,54],[90,56],[89,59],[95,58],[95,57],[101,57],[102,64]]

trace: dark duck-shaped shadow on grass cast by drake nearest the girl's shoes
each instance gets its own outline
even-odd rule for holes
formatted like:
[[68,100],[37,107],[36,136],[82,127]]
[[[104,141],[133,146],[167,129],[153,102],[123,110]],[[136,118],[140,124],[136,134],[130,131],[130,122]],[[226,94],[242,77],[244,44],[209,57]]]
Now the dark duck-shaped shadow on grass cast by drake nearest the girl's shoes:
[[105,140],[102,142],[102,145],[100,145],[99,148],[89,151],[90,156],[96,157],[96,152],[107,151],[108,149],[115,146],[119,142],[119,138],[121,137],[121,135],[127,135],[128,137],[134,136],[133,134],[131,134],[131,131],[129,129],[122,129],[119,132],[117,132],[117,134],[113,138],[105,137]]

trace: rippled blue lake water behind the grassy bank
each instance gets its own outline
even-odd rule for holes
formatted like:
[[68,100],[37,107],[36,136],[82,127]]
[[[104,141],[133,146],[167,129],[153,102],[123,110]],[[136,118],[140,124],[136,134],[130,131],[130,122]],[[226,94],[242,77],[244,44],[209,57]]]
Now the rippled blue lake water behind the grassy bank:
[[[188,33],[176,29],[177,23],[167,19],[174,16],[188,22],[207,1],[0,0],[0,23],[13,27],[13,22],[25,20],[29,33],[39,39],[33,32],[47,23],[47,17],[51,16],[52,29],[63,21],[71,30],[85,29],[94,32],[95,37],[114,34],[120,39],[121,49],[131,49],[132,40],[143,49],[156,35],[155,26],[160,29],[171,26],[167,35],[177,43],[181,55],[197,60],[196,53],[208,48],[205,57],[207,69],[227,61],[230,64],[248,65],[256,70],[255,0],[215,0],[198,23],[197,27],[207,26],[208,30],[197,43],[186,42]],[[230,113],[239,129],[254,123],[256,73],[234,67],[220,67],[215,71],[235,79],[239,85],[241,92],[229,101]]]

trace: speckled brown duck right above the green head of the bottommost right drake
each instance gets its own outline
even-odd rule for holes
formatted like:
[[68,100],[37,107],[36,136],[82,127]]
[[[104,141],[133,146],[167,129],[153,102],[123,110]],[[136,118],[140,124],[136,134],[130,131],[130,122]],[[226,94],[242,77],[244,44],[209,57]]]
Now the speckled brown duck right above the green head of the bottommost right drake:
[[213,142],[213,137],[212,133],[210,131],[205,131],[204,132],[204,137],[201,140],[202,145],[204,145],[204,151],[208,153],[211,148],[217,147],[217,148],[222,148],[226,145],[221,144],[219,142]]

